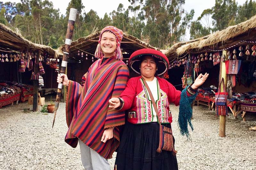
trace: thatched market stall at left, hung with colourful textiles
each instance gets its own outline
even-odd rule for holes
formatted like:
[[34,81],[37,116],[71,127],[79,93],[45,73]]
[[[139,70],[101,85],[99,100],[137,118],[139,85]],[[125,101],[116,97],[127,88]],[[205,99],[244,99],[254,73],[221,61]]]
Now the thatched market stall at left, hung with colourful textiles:
[[[45,82],[43,64],[55,65],[56,68],[57,56],[51,47],[32,43],[20,33],[0,24],[0,106],[13,101],[24,102],[29,96],[37,96]],[[45,77],[46,81],[52,81],[48,78]]]

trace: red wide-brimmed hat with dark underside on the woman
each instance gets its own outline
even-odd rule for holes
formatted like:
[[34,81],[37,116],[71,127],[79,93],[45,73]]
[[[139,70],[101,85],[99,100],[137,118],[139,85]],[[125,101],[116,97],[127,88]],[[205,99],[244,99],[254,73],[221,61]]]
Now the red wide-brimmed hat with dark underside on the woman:
[[140,74],[141,59],[145,55],[152,56],[155,58],[155,60],[158,61],[157,76],[164,74],[169,68],[169,60],[166,57],[166,55],[164,55],[160,51],[150,49],[150,48],[145,48],[145,49],[140,49],[133,52],[129,58],[128,64],[132,68],[132,70],[135,71],[136,73]]

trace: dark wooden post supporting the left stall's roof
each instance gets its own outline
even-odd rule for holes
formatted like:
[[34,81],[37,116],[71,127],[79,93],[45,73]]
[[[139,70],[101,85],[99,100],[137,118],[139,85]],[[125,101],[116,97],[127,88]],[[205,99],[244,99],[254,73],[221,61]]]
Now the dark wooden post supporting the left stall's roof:
[[[37,55],[36,55],[36,62],[35,62],[35,73],[38,73],[38,64],[39,64],[39,50],[37,51]],[[38,80],[33,80],[34,83],[34,94],[33,94],[33,112],[37,111],[37,100],[38,100]]]

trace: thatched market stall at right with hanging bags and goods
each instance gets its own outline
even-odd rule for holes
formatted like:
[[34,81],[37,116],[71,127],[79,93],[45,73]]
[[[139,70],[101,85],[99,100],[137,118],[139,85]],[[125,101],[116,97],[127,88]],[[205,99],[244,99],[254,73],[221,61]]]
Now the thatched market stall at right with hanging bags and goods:
[[[204,104],[214,108],[216,104],[216,90],[218,91],[221,78],[224,78],[225,90],[228,92],[226,106],[236,117],[243,112],[254,113],[255,57],[256,57],[256,16],[235,26],[207,35],[205,37],[182,42],[174,45],[165,54],[170,61],[170,69],[182,67],[188,61],[194,70],[194,77],[201,72],[210,76],[204,87],[200,87],[196,98],[197,104]],[[212,63],[212,65],[209,65]],[[184,71],[184,77],[187,79]],[[193,76],[192,76],[193,77]],[[182,78],[181,78],[182,79]],[[194,79],[193,79],[194,80]],[[183,80],[180,80],[184,85]],[[216,86],[214,91],[205,91]],[[223,88],[220,88],[223,92]],[[211,92],[213,91],[213,92]],[[233,95],[232,95],[233,94]],[[244,95],[246,97],[244,98]],[[220,108],[220,107],[216,107]],[[216,111],[218,115],[218,110]],[[222,116],[222,115],[221,115]]]

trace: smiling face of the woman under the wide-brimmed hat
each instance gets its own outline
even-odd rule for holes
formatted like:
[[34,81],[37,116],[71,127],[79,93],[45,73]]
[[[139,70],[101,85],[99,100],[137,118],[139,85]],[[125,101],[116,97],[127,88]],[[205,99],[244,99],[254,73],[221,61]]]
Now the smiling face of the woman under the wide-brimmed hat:
[[140,73],[146,78],[153,78],[156,74],[156,61],[151,56],[145,56],[140,64]]

